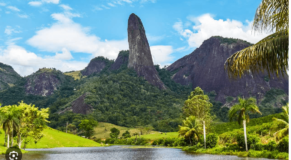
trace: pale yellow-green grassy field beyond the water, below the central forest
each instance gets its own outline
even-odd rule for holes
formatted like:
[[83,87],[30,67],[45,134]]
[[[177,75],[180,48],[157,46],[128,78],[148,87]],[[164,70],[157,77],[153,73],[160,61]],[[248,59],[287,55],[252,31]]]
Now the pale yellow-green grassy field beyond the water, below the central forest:
[[[98,126],[95,127],[95,135],[92,137],[96,138],[110,138],[109,134],[111,133],[111,128],[117,128],[120,131],[119,136],[121,137],[125,131],[129,131],[130,135],[132,136],[135,132],[139,133],[139,128],[127,128],[127,127],[120,127],[117,125],[113,125],[107,122],[99,122]],[[105,130],[106,129],[106,130]],[[131,138],[134,138],[132,136]],[[139,136],[138,136],[139,137]],[[159,134],[158,131],[151,131],[150,134],[141,135],[141,138],[150,138],[152,141],[159,138],[168,138],[168,137],[178,137],[178,132],[168,132],[167,135],[165,133]]]

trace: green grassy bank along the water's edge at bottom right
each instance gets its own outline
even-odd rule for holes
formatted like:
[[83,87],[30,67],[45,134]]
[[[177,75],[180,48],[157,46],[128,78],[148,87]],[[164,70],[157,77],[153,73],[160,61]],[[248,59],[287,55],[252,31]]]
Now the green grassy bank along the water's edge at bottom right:
[[269,159],[289,159],[289,154],[286,152],[279,152],[279,151],[254,151],[249,150],[246,151],[239,151],[239,150],[232,150],[229,147],[214,147],[211,149],[204,149],[204,148],[197,148],[196,146],[193,147],[184,147],[182,148],[183,151],[188,153],[205,153],[205,154],[221,154],[221,155],[235,155],[240,157],[255,157],[255,158],[269,158]]

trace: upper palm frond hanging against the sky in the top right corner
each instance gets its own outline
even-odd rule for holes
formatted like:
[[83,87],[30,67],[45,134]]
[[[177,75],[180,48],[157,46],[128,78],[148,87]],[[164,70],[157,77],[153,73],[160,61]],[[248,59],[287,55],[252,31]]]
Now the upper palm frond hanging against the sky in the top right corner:
[[289,28],[289,1],[263,0],[255,13],[254,31],[276,32]]

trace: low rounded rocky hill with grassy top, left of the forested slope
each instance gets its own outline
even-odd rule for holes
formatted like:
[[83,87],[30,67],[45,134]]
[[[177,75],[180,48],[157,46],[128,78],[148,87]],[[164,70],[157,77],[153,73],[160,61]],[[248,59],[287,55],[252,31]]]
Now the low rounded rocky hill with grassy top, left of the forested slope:
[[25,93],[47,96],[53,94],[62,84],[73,81],[73,78],[64,75],[56,69],[42,68],[25,77]]

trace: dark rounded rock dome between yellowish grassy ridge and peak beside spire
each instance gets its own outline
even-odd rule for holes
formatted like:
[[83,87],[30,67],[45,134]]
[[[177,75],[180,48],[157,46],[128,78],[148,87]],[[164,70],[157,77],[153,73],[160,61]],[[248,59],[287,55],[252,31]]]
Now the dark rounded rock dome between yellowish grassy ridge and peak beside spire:
[[[101,72],[106,66],[106,62],[103,60],[104,57],[95,57],[91,59],[90,63],[84,70],[81,70],[83,76],[88,76],[94,72]],[[105,59],[105,58],[104,58]]]

